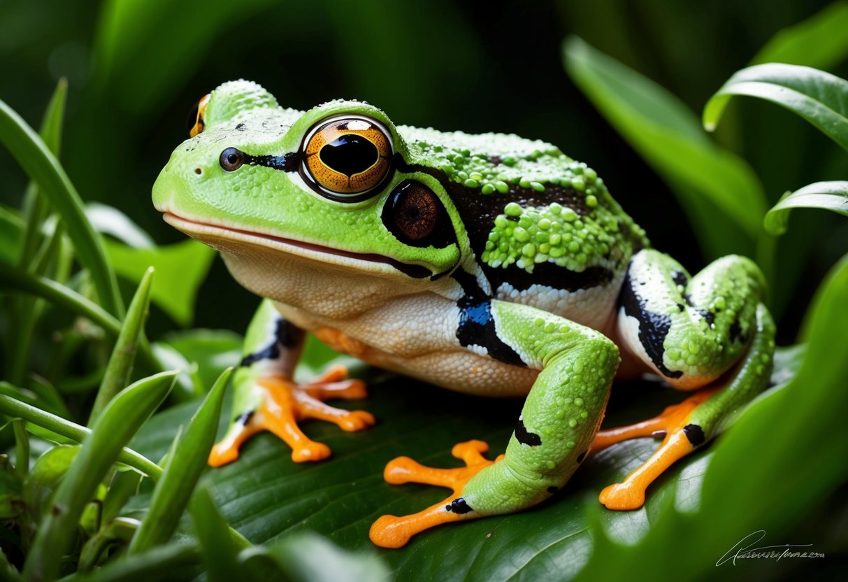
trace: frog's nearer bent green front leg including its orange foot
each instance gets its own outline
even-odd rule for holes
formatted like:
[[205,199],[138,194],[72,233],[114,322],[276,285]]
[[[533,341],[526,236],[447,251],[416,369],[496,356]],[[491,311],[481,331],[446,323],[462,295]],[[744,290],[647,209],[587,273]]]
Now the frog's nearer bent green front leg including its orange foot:
[[505,456],[487,461],[485,443],[471,441],[453,451],[466,467],[433,469],[407,457],[389,462],[389,483],[438,484],[454,495],[414,515],[378,519],[371,526],[377,546],[401,547],[440,523],[516,512],[547,499],[583,462],[598,430],[619,361],[610,339],[527,305],[493,300],[477,311],[494,320],[498,342],[540,371]]

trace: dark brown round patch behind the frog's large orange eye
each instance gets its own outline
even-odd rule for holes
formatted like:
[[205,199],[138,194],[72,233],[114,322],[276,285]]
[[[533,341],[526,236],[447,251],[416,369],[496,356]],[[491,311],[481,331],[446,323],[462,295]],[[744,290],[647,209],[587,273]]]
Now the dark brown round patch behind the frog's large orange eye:
[[415,180],[400,182],[388,196],[382,223],[401,243],[442,249],[454,242],[448,213],[427,186]]

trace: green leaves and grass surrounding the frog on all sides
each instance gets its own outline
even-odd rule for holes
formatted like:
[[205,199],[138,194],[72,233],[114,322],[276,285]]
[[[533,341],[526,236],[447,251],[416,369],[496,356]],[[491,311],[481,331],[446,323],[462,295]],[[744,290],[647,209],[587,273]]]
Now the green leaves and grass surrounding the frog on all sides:
[[[596,12],[528,8],[506,23],[436,2],[437,23],[388,2],[113,0],[81,32],[55,4],[52,16],[41,3],[4,6],[0,24],[11,79],[0,85],[0,146],[14,159],[0,169],[0,578],[835,575],[848,551],[848,3],[812,14],[762,0],[693,20],[686,3],[611,0]],[[739,42],[726,60],[711,57],[731,19],[743,23]],[[27,41],[20,30],[34,21],[45,35]],[[436,25],[446,40],[422,50]],[[567,32],[579,37],[558,52]],[[278,59],[273,43],[284,45]],[[70,83],[58,82],[41,113],[46,81],[26,67],[48,60]],[[525,63],[533,76],[516,74]],[[331,70],[338,78],[321,85]],[[208,248],[159,225],[149,188],[185,137],[192,98],[240,76],[301,109],[357,92],[401,123],[544,138],[596,168],[653,243],[692,269],[730,252],[754,257],[787,346],[775,386],[661,478],[639,511],[608,512],[597,495],[650,456],[650,439],[603,451],[529,512],[434,529],[399,551],[373,548],[370,524],[444,495],[385,484],[385,463],[449,466],[451,446],[471,438],[497,454],[518,402],[359,367],[371,398],[343,406],[379,423],[359,434],[308,424],[331,460],[297,465],[259,436],[239,462],[204,469],[240,337],[192,326],[243,330],[256,299]],[[36,115],[39,132],[25,121]],[[797,208],[835,213],[801,210],[790,222]],[[310,339],[298,373],[338,358]],[[605,425],[680,397],[651,383],[614,389]],[[762,545],[809,543],[825,557],[717,566],[760,529]]]

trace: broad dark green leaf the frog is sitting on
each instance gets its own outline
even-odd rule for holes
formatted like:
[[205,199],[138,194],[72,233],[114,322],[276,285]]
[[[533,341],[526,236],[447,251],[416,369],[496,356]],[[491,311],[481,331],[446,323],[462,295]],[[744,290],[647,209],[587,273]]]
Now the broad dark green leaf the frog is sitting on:
[[[783,363],[779,368],[787,372]],[[589,459],[561,495],[541,506],[433,529],[401,550],[377,550],[368,540],[377,517],[416,512],[446,495],[424,485],[384,483],[382,469],[388,460],[409,455],[432,466],[455,467],[459,462],[449,455],[450,447],[471,438],[488,440],[494,456],[504,450],[521,408],[520,400],[480,399],[382,376],[372,374],[369,400],[340,405],[374,412],[377,426],[349,434],[326,423],[305,423],[311,438],[330,445],[331,460],[295,464],[282,442],[263,434],[246,445],[239,461],[207,473],[215,500],[233,527],[254,543],[313,530],[344,548],[377,552],[397,579],[566,579],[589,560],[598,528],[633,543],[669,502],[683,507],[695,503],[712,455],[707,451],[679,462],[650,489],[643,509],[599,510],[593,525],[587,511],[598,506],[600,489],[656,450],[656,441],[636,439]],[[605,425],[644,419],[682,397],[655,383],[617,386]],[[159,458],[195,406],[181,405],[153,417],[132,446]],[[225,423],[222,417],[220,430]]]

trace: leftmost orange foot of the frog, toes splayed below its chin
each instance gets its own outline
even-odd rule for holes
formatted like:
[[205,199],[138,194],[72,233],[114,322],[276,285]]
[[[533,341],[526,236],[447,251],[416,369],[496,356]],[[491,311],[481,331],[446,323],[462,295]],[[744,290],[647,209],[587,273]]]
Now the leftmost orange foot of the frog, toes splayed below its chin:
[[294,462],[321,461],[330,456],[330,447],[310,440],[298,427],[298,421],[318,418],[338,424],[346,431],[362,430],[374,424],[370,412],[346,411],[324,404],[323,400],[365,398],[365,383],[344,380],[347,369],[330,367],[309,383],[298,384],[290,378],[268,376],[256,380],[257,388],[265,393],[262,404],[232,423],[224,439],[209,453],[209,465],[220,467],[238,458],[243,443],[263,430],[269,430],[292,447]]

